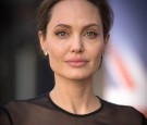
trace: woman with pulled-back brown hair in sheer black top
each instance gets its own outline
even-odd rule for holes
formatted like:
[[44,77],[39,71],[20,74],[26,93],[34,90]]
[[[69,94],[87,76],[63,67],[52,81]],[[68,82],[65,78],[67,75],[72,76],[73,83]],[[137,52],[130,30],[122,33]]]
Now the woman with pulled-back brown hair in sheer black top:
[[38,12],[40,47],[54,73],[54,88],[1,109],[0,125],[147,125],[131,107],[93,92],[112,13],[106,0],[45,0]]

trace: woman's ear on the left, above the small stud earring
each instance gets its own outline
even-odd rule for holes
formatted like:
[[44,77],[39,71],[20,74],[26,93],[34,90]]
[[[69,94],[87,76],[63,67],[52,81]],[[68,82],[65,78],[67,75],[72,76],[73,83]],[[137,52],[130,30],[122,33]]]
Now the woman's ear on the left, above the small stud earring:
[[39,38],[41,50],[44,51],[44,53],[46,53],[47,52],[47,42],[46,42],[46,38],[41,30],[38,32],[38,38]]

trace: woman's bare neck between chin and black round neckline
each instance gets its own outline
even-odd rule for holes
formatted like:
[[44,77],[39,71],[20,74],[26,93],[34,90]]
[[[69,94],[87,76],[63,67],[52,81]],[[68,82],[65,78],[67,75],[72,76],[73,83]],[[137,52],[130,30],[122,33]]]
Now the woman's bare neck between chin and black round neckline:
[[93,92],[91,77],[84,80],[71,80],[56,76],[56,85],[50,97],[57,105],[76,114],[86,114],[100,107]]

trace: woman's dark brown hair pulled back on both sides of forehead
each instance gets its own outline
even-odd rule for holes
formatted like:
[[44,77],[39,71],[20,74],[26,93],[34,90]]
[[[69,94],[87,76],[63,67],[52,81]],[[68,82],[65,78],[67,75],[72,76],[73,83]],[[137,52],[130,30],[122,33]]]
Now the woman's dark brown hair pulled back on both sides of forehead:
[[[53,7],[62,0],[44,0],[37,12],[37,29],[41,30],[46,37],[47,25],[51,18]],[[87,0],[93,3],[100,12],[103,36],[106,37],[113,24],[113,12],[107,0]]]

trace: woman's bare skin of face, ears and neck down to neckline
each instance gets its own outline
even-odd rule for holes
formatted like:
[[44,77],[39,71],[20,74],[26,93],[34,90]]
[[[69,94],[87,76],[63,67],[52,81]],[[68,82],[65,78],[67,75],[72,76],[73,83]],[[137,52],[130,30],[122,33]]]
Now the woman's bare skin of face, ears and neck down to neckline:
[[61,1],[53,7],[47,37],[41,32],[38,36],[54,72],[52,101],[73,114],[98,110],[101,104],[93,92],[93,75],[109,39],[103,38],[98,10],[85,0]]

